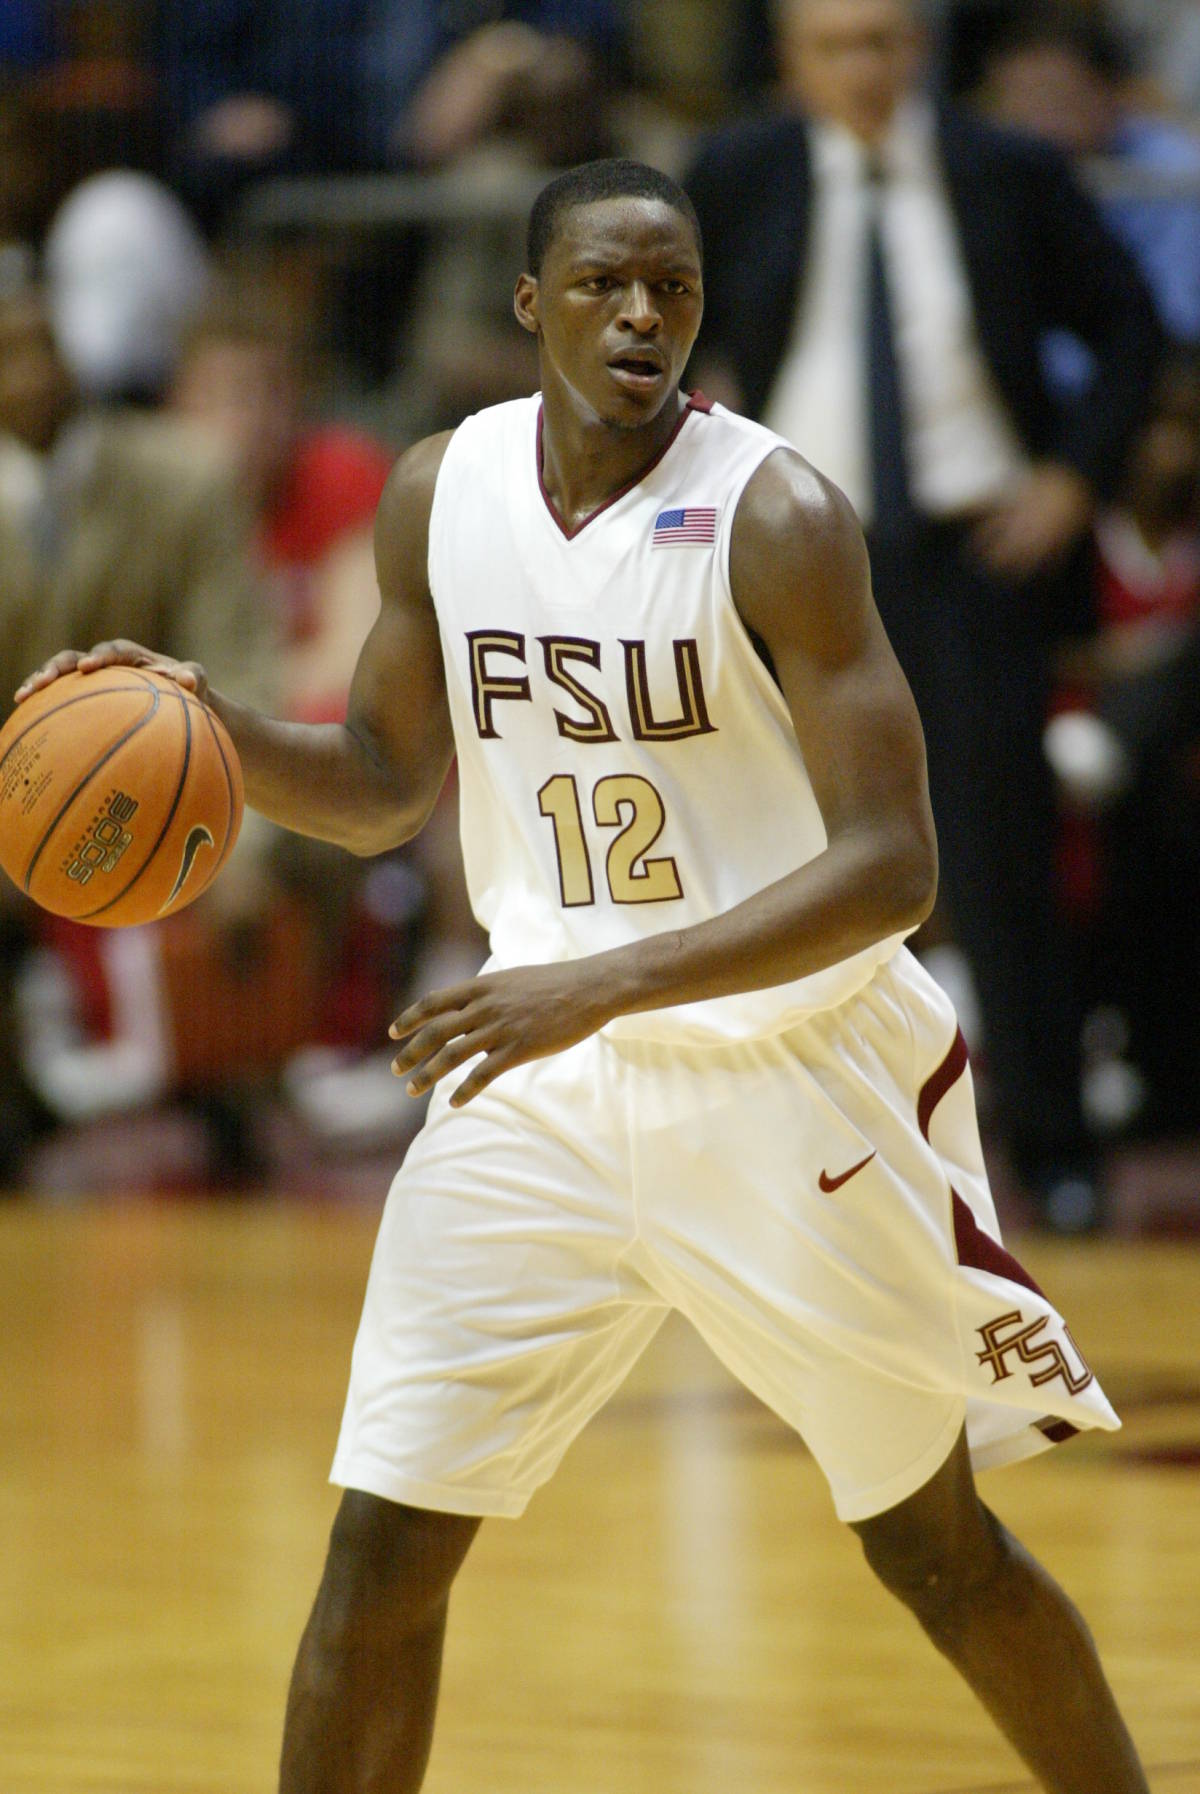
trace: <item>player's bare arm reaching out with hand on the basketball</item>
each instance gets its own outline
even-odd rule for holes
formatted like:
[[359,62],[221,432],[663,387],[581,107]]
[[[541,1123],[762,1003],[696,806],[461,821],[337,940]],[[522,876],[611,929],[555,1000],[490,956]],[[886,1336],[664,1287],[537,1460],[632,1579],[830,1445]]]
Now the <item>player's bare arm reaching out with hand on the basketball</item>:
[[355,854],[409,840],[429,816],[454,752],[438,623],[429,592],[429,513],[448,434],[409,448],[375,522],[380,610],[350,687],[344,723],[285,723],[210,691],[196,662],[136,642],[56,655],[18,700],[59,673],[147,666],[204,698],[233,737],[246,800],[271,822]]

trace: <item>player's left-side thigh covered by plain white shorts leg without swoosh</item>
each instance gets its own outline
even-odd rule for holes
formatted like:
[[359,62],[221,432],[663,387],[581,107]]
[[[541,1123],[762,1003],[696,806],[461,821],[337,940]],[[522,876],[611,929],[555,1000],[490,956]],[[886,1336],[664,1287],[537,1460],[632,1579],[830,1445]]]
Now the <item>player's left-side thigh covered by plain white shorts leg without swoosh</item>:
[[665,1313],[631,1231],[604,1042],[438,1102],[387,1198],[334,1480],[520,1512]]

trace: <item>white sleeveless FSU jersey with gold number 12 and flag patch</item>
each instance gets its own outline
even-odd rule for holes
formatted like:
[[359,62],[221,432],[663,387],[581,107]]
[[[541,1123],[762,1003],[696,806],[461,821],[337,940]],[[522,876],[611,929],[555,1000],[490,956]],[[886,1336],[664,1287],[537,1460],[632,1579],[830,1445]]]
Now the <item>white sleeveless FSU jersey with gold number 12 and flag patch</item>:
[[[703,922],[825,847],[787,707],[728,583],[737,501],[782,438],[692,400],[642,477],[567,533],[542,484],[540,420],[533,396],[459,425],[429,526],[463,858],[491,967]],[[608,1032],[775,1033],[845,1001],[900,940]]]

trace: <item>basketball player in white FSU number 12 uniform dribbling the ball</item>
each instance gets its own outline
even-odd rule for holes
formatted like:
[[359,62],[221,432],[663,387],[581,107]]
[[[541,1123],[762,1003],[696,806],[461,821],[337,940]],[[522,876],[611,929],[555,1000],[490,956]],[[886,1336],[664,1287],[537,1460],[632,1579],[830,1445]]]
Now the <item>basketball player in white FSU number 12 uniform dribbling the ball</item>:
[[[481,1516],[524,1509],[671,1308],[804,1435],[1044,1787],[1144,1794],[1083,1622],[974,1491],[1117,1421],[999,1243],[961,1037],[902,945],[935,836],[854,515],[680,393],[701,262],[673,181],[569,172],[527,266],[542,396],[395,468],[346,727],[208,692],[249,800],[362,854],[420,829],[457,750],[493,947],[393,1026],[436,1091],[366,1292],[283,1794],[420,1787]],[[22,692],[113,662],[206,689],[109,642]]]

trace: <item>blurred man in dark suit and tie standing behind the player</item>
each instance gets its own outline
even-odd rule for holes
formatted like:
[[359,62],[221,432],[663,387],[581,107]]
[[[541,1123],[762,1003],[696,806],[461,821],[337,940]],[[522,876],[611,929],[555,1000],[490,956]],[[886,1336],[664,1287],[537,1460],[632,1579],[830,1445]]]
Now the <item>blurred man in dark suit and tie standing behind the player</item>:
[[[778,16],[791,104],[716,136],[687,179],[705,233],[694,371],[863,517],[1003,1130],[1044,1220],[1087,1227],[1040,739],[1055,640],[1089,626],[1089,526],[1143,416],[1153,305],[1053,151],[926,99],[909,0],[780,0]],[[1069,413],[1039,361],[1051,328],[1096,359]]]

